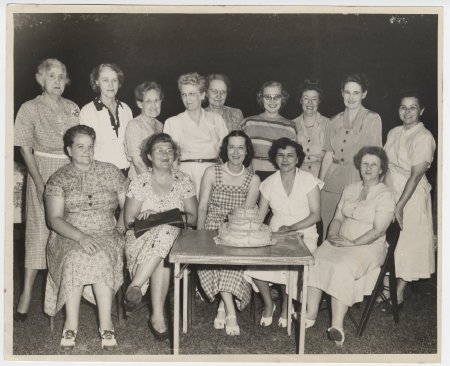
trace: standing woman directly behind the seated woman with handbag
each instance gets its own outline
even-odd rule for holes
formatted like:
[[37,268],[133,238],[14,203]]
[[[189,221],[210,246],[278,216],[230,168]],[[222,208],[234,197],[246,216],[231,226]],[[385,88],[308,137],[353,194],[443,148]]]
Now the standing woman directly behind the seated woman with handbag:
[[125,154],[131,161],[128,177],[147,171],[147,165],[141,159],[142,143],[150,136],[162,132],[163,125],[156,119],[161,113],[164,93],[154,81],[144,81],[134,89],[136,104],[142,113],[131,120],[125,131]]

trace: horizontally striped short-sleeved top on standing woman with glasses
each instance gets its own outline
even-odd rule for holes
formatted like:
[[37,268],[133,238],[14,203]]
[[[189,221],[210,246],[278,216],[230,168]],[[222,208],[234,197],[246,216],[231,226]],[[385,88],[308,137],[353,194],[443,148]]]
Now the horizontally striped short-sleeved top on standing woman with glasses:
[[272,142],[282,137],[297,141],[297,128],[289,119],[279,116],[277,119],[265,119],[262,114],[247,117],[241,129],[250,137],[255,150],[252,160],[253,170],[275,171],[269,161],[269,149]]

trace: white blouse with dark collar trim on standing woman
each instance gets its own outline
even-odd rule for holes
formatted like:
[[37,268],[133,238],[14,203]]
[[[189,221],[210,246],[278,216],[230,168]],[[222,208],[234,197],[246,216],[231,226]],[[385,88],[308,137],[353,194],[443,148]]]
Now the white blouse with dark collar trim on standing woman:
[[114,164],[119,169],[130,166],[125,155],[125,130],[133,119],[130,107],[117,101],[118,135],[111,125],[110,112],[103,103],[92,101],[81,108],[80,123],[92,127],[96,133],[94,159]]

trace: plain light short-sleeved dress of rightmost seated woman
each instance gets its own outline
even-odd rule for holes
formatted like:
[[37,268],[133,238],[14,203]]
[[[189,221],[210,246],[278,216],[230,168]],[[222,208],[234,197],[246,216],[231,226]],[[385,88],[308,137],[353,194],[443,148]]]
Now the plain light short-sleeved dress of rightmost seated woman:
[[[377,213],[394,217],[394,195],[384,183],[371,187],[365,200],[360,198],[362,189],[362,182],[347,186],[337,207],[344,216],[339,235],[349,240],[373,229]],[[324,241],[314,252],[315,263],[310,267],[308,286],[352,306],[372,292],[386,248],[385,235],[371,244],[355,247],[335,247]]]

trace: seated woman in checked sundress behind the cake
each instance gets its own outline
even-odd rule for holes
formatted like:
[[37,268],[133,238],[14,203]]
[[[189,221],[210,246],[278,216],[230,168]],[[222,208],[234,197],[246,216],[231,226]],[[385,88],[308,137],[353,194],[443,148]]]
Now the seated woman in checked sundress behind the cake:
[[[222,141],[223,164],[206,169],[200,187],[198,230],[216,230],[238,206],[254,207],[258,199],[259,178],[247,167],[253,158],[250,138],[242,131],[231,131]],[[239,310],[250,301],[251,287],[239,266],[217,266],[200,269],[198,277],[206,296],[212,302],[217,294],[221,301],[214,328],[227,335],[240,334],[233,296]]]

